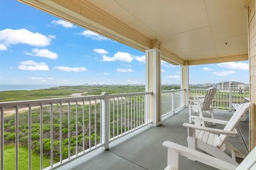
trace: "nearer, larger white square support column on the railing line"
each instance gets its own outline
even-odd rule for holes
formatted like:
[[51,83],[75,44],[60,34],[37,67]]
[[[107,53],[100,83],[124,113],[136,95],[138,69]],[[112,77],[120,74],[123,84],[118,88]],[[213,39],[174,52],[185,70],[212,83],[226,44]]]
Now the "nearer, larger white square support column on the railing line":
[[146,91],[153,91],[149,96],[149,119],[153,126],[161,124],[161,50],[147,49],[146,53]]

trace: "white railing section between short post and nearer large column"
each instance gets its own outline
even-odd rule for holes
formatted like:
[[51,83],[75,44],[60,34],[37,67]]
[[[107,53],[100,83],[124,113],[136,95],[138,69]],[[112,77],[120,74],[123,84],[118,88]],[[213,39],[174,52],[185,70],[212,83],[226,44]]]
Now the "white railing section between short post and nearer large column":
[[109,95],[109,141],[137,130],[149,123],[151,92]]

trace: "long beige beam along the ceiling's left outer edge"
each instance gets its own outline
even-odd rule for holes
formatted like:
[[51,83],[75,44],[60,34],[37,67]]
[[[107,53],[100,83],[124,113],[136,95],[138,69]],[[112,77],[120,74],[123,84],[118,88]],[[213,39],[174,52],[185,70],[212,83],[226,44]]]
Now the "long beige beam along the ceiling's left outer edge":
[[[145,52],[153,48],[151,40],[143,36],[129,25],[117,20],[105,11],[86,0],[18,0],[22,3],[36,7],[39,10],[50,13],[85,29],[97,32],[100,35],[116,40],[125,45]],[[172,64],[183,65],[184,60],[161,47],[163,60]]]

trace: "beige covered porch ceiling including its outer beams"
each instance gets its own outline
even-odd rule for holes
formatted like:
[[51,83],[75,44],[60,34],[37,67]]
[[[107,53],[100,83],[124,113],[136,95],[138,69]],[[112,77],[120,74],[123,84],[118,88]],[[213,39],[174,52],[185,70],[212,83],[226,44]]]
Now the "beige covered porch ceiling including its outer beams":
[[19,0],[172,64],[248,60],[246,0]]

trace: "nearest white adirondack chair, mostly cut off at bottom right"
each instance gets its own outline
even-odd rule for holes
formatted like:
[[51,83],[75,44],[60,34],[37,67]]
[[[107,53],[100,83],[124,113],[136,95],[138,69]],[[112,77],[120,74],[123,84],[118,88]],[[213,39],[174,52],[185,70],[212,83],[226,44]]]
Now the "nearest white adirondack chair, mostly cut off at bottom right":
[[[236,166],[215,158],[211,155],[204,154],[194,149],[181,146],[170,141],[163,142],[163,146],[168,149],[167,166],[164,170],[179,170],[179,155],[193,157],[196,161],[203,164],[222,169],[222,170],[255,170],[256,169],[256,147],[250,152],[243,162]],[[185,169],[182,169],[185,170]]]

